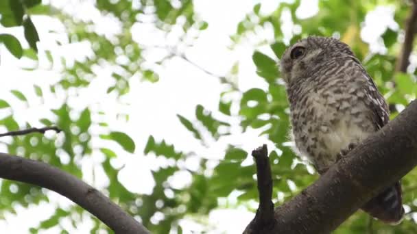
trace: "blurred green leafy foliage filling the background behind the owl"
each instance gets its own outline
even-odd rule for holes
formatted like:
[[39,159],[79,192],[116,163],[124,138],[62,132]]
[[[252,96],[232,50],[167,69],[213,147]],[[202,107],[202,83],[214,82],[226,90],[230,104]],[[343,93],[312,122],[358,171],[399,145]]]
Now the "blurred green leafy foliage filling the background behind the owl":
[[[232,34],[230,39],[233,42],[230,49],[243,43],[244,45],[252,44],[254,47],[252,62],[256,67],[256,74],[254,73],[252,77],[256,77],[255,79],[259,79],[264,85],[241,90],[237,85],[239,83],[237,80],[241,79],[239,66],[243,65],[239,62],[233,64],[230,74],[219,77],[226,88],[222,90],[218,109],[197,105],[193,116],[177,113],[178,125],[182,125],[191,133],[184,141],[197,140],[196,142],[199,142],[202,148],[208,149],[214,147],[213,142],[224,142],[230,137],[230,133],[235,134],[237,131],[233,129],[239,129],[243,133],[257,131],[269,143],[276,146],[270,148],[270,161],[274,176],[274,202],[281,205],[285,200],[294,197],[313,183],[318,176],[311,174],[311,170],[307,170],[308,163],[298,159],[287,146],[289,107],[277,64],[289,43],[312,34],[339,35],[340,39],[349,44],[362,60],[369,75],[390,105],[406,106],[416,97],[416,69],[410,66],[409,73],[394,71],[398,50],[401,47],[399,40],[402,37],[401,30],[388,28],[379,36],[380,41],[385,45],[386,53],[370,51],[369,45],[361,39],[361,25],[366,15],[379,5],[392,6],[395,10],[394,21],[403,27],[409,12],[409,5],[405,1],[320,0],[318,1],[319,12],[309,18],[298,17],[300,1],[297,0],[281,2],[276,9],[267,9],[267,11],[263,9],[263,2],[254,5],[252,10],[243,16],[241,22],[237,23],[235,32],[230,31]],[[80,20],[62,9],[56,9],[52,5],[43,5],[40,0],[0,1],[1,25],[21,29],[29,47],[24,47],[25,43],[19,42],[21,38],[14,34],[0,34],[0,43],[14,57],[33,60],[32,62],[36,65],[26,70],[45,68],[39,65],[40,62],[49,63],[47,69],[55,68],[57,65],[62,67],[60,70],[62,77],[59,77],[49,88],[36,84],[32,90],[34,93],[30,94],[23,89],[11,90],[14,101],[18,99],[29,106],[32,105],[32,100],[30,100],[32,96],[45,100],[50,98],[48,95],[64,96],[65,100],[55,105],[54,109],[50,109],[50,113],[45,113],[45,116],[40,117],[38,122],[29,123],[16,118],[16,107],[12,100],[1,97],[0,109],[6,114],[0,119],[0,127],[8,131],[16,131],[36,124],[34,127],[56,125],[62,129],[62,133],[52,136],[23,135],[1,144],[4,144],[10,154],[45,161],[79,178],[85,176],[81,165],[82,159],[93,158],[96,153],[102,155],[103,159],[99,160],[97,166],[104,171],[109,181],[103,191],[132,216],[139,216],[142,223],[153,233],[169,233],[170,231],[181,233],[184,227],[180,226],[179,220],[183,218],[191,218],[205,224],[208,213],[219,207],[234,208],[243,205],[251,210],[252,207],[249,204],[258,199],[258,194],[254,180],[255,167],[248,152],[243,150],[248,146],[231,144],[225,147],[223,155],[213,157],[213,155],[193,151],[184,152],[179,146],[165,140],[158,140],[153,135],[147,138],[147,142],[135,144],[135,139],[112,128],[109,122],[101,118],[121,113],[103,113],[89,106],[80,110],[70,105],[69,99],[74,94],[74,90],[76,90],[75,93],[85,91],[92,81],[101,79],[97,77],[97,70],[102,70],[104,67],[110,69],[108,74],[113,83],[103,86],[101,91],[118,100],[123,100],[123,96],[130,93],[132,84],[130,81],[134,77],[139,77],[141,81],[158,82],[161,79],[160,70],[164,68],[165,61],[174,55],[169,54],[160,59],[148,60],[147,51],[154,47],[134,42],[132,26],[142,21],[142,16],[152,18],[152,21],[147,23],[156,27],[165,38],[169,38],[175,32],[180,34],[178,36],[180,39],[176,42],[178,48],[189,47],[198,37],[193,36],[195,32],[209,27],[207,22],[200,20],[198,14],[195,14],[193,1],[98,0],[95,8],[102,16],[110,16],[112,20],[117,21],[120,31],[112,36],[99,34],[91,29],[95,26],[95,22]],[[219,8],[222,8],[222,5],[219,5]],[[36,30],[39,25],[34,25],[32,22],[38,14],[56,18],[63,23],[65,38],[68,42],[57,40],[54,46],[59,48],[62,43],[88,42],[91,44],[92,55],[84,57],[83,60],[71,60],[69,57],[60,57],[61,55],[53,51],[42,51],[41,47],[38,48],[39,40],[42,43],[44,38],[44,35],[38,35]],[[289,14],[292,24],[299,30],[293,28],[291,32],[288,32],[283,29],[282,16],[284,14]],[[180,33],[176,28],[178,25],[181,29]],[[259,34],[259,31],[263,29],[272,30],[270,33],[272,38],[265,39]],[[168,48],[168,51],[171,51],[171,48]],[[121,57],[123,60],[120,59]],[[40,58],[46,58],[46,60],[42,61]],[[3,78],[8,79],[8,77]],[[393,112],[392,117],[396,114],[398,113]],[[166,131],[171,130],[166,129]],[[128,190],[119,181],[123,166],[113,164],[113,160],[116,161],[121,156],[119,151],[117,148],[112,148],[112,144],[96,146],[94,142],[97,140],[104,143],[113,142],[120,146],[119,148],[123,148],[123,152],[134,154],[130,156],[143,156],[156,161],[158,165],[152,167],[154,179],[152,194],[136,194]],[[136,151],[135,149],[136,145],[139,148],[139,145],[143,144],[145,147],[141,155],[139,151],[142,149]],[[198,161],[198,168],[191,169],[184,166],[187,160]],[[188,174],[191,181],[184,187],[178,188],[170,181],[180,173]],[[417,225],[412,219],[412,214],[417,210],[416,178],[417,171],[413,170],[403,179],[404,203],[411,211],[402,224],[387,226],[377,220],[370,220],[365,213],[359,211],[346,220],[335,233],[416,233]],[[49,202],[48,194],[32,185],[3,180],[0,189],[0,214],[16,213],[15,204],[29,207],[31,204]],[[228,198],[230,194],[236,192],[239,194],[237,204],[219,203],[219,198]],[[69,218],[73,226],[78,226],[75,217],[82,213],[83,210],[80,207],[71,206],[63,209],[58,206],[50,218],[32,227],[30,232],[38,233],[43,229],[58,227],[62,233],[67,233],[68,231],[60,224],[60,219]],[[160,213],[163,213],[163,219],[155,222],[153,217]],[[110,232],[97,219],[94,218],[93,223],[95,226],[91,233],[101,229]],[[242,227],[245,225],[242,224]]]

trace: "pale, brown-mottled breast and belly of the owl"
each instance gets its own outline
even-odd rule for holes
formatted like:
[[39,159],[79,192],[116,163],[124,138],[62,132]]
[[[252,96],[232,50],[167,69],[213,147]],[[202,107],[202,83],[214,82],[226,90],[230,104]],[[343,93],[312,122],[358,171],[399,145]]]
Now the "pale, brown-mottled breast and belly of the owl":
[[296,146],[318,169],[334,164],[342,149],[374,131],[364,102],[334,91],[310,92],[291,104]]

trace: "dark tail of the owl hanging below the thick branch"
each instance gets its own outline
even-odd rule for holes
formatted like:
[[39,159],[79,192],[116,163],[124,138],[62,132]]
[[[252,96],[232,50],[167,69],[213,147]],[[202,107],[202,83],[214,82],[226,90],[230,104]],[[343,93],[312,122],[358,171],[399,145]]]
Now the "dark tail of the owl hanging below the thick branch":
[[385,223],[398,224],[401,222],[404,209],[400,181],[369,200],[362,209]]

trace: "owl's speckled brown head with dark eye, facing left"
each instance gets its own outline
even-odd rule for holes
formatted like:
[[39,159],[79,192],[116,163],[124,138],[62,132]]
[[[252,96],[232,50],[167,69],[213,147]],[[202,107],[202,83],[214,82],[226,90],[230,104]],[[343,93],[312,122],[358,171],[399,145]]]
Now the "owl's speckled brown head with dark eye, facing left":
[[354,57],[344,42],[336,38],[309,36],[285,50],[281,57],[281,75],[291,84],[298,79],[310,77],[318,66],[326,66],[326,62],[346,55]]

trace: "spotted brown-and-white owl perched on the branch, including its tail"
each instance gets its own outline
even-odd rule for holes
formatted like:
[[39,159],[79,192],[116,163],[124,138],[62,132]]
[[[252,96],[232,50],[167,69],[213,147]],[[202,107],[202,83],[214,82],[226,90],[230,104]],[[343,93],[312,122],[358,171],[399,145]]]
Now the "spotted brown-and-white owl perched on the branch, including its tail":
[[[301,155],[320,173],[389,121],[385,99],[347,44],[310,36],[281,58],[287,83],[292,135]],[[401,221],[400,181],[362,209],[383,222]]]

